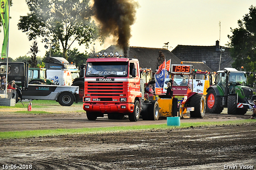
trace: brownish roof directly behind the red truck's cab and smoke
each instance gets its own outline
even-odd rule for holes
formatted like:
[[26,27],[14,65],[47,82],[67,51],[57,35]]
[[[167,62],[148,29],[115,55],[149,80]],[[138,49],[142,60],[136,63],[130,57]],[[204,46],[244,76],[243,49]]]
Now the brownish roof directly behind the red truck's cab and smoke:
[[[118,50],[116,45],[111,45],[105,50],[101,50],[102,52],[107,51],[121,51]],[[140,61],[141,68],[151,68],[153,71],[157,69],[157,58],[159,56],[159,51],[162,51],[164,56],[166,57],[166,61],[171,60],[172,64],[180,64],[180,59],[176,57],[171,51],[165,48],[149,48],[149,47],[129,47],[128,50],[128,58],[136,58]],[[120,54],[122,54],[120,52]]]

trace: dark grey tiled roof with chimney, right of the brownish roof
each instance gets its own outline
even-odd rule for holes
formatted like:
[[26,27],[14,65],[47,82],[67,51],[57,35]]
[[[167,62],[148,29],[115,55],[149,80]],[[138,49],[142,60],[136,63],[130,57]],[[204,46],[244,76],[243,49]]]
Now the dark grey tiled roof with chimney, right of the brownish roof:
[[196,46],[196,45],[177,45],[172,53],[176,55],[182,61],[203,61],[213,71],[223,70],[224,67],[231,67],[233,59],[230,56],[228,47],[225,47],[225,51],[222,51],[220,62],[220,48],[219,41],[216,41],[216,45],[212,46]]

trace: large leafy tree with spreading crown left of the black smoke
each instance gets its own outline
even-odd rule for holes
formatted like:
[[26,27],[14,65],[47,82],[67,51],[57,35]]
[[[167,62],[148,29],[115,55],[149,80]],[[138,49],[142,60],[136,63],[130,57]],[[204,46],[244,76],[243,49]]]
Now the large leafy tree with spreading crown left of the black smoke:
[[[89,44],[98,38],[97,28],[91,19],[90,0],[26,0],[30,13],[20,16],[18,29],[26,32],[31,41],[36,37],[57,40],[63,57],[75,41]],[[49,38],[49,39],[50,39]]]

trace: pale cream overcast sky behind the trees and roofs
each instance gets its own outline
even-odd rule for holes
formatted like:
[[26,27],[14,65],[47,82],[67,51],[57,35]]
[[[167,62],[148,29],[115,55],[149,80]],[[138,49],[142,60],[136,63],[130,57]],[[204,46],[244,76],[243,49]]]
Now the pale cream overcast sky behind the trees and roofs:
[[[229,41],[231,28],[238,28],[237,21],[249,13],[251,5],[256,6],[255,0],[137,0],[136,22],[132,25],[130,46],[162,48],[169,42],[169,50],[177,45],[215,45],[220,39],[220,45],[225,46]],[[10,35],[8,56],[13,59],[28,55],[32,42],[28,41],[25,33],[18,30],[20,16],[28,13],[25,0],[13,0],[10,8]],[[221,22],[221,27],[219,27]],[[221,32],[220,32],[221,28]],[[2,29],[2,28],[1,28]],[[4,39],[3,29],[0,33],[0,44]],[[38,39],[40,52],[44,56],[45,43]],[[96,52],[109,47],[111,42],[96,46]],[[84,52],[84,45],[72,45]],[[0,48],[2,49],[2,47]],[[89,50],[90,52],[90,50]]]

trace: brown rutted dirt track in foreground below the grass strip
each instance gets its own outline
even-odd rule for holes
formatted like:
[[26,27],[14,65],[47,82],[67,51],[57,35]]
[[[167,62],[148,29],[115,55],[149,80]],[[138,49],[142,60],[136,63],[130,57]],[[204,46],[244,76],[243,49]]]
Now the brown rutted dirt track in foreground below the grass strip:
[[255,143],[256,123],[0,140],[0,167],[216,170],[244,164],[256,169]]

